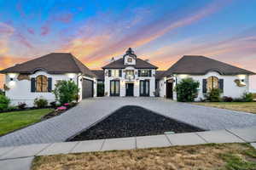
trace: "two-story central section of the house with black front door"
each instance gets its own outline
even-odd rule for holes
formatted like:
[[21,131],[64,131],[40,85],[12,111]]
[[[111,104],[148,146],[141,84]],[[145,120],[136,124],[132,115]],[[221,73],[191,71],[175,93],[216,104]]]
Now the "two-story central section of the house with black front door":
[[158,67],[137,58],[129,48],[123,58],[102,67],[106,96],[155,96]]

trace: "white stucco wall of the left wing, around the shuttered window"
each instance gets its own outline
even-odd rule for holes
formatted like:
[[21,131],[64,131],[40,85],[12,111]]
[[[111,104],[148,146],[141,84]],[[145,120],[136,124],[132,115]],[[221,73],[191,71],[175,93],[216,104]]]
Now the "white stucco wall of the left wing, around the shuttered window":
[[[55,95],[50,92],[38,93],[38,92],[31,92],[31,81],[30,80],[21,80],[17,79],[19,74],[11,73],[5,76],[5,82],[10,88],[8,91],[5,92],[6,96],[11,99],[11,105],[18,105],[19,102],[25,102],[27,106],[33,106],[34,99],[43,97],[47,99],[48,102],[55,101]],[[76,73],[68,73],[68,74],[48,74],[45,71],[37,71],[34,74],[30,75],[30,78],[38,77],[39,75],[44,75],[46,77],[52,78],[52,89],[55,89],[55,83],[58,80],[73,80],[77,84],[77,77],[78,74]],[[10,81],[10,78],[13,77],[14,81]],[[94,78],[86,77],[88,79],[96,81]],[[95,86],[95,93],[96,95],[96,83]],[[79,81],[79,96],[81,100],[82,94],[82,82]]]

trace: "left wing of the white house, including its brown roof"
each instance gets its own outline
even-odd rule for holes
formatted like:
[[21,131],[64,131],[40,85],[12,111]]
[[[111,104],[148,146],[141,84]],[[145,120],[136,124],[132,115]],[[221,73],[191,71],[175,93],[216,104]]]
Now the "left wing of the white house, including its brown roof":
[[25,102],[32,106],[34,99],[55,100],[52,90],[60,80],[72,80],[79,87],[79,99],[96,96],[96,75],[73,54],[52,53],[9,67],[5,74],[5,94],[12,105]]

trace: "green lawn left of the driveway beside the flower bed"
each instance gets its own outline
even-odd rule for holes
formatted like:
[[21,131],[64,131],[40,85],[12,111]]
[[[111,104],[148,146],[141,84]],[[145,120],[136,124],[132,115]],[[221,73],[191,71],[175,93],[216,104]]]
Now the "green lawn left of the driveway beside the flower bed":
[[50,111],[53,110],[38,109],[0,113],[0,135],[10,133],[35,122],[40,122],[42,116],[47,115]]

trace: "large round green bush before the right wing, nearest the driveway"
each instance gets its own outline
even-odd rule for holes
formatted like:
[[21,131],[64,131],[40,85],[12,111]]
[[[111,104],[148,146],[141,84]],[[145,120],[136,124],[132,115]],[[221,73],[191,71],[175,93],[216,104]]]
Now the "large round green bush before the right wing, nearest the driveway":
[[196,82],[192,78],[184,78],[176,85],[177,101],[191,102],[194,101],[197,96],[197,88],[200,83]]

